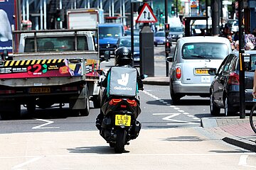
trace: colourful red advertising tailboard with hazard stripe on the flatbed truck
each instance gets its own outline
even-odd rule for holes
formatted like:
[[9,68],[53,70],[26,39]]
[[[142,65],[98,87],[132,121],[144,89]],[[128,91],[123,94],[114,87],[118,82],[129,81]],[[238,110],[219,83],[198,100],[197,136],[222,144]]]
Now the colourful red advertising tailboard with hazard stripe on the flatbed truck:
[[7,60],[1,62],[0,79],[36,77],[98,77],[99,61],[82,59]]

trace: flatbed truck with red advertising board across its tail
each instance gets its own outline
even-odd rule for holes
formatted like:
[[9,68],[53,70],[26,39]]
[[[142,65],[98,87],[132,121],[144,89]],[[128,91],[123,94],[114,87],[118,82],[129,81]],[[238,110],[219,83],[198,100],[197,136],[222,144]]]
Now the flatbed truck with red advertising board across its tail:
[[[0,61],[1,118],[18,118],[21,105],[33,113],[36,106],[68,103],[80,115],[89,114],[89,100],[100,108],[100,61],[93,31],[97,28],[14,31],[19,45],[14,41],[13,55]],[[46,46],[48,42],[55,46]]]

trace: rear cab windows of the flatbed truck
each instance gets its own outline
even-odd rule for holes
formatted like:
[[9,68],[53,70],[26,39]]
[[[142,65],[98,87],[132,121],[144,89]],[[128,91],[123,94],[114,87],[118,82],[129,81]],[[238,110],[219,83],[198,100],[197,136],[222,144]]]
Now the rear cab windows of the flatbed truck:
[[[36,38],[36,42],[38,52],[75,51],[75,38],[73,36]],[[85,36],[78,36],[78,50],[88,50]],[[26,38],[24,52],[34,51],[34,38]]]

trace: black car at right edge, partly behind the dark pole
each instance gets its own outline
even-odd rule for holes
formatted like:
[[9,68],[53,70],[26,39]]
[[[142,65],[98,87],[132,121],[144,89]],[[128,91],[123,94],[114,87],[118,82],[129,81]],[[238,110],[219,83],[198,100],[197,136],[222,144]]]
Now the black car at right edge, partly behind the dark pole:
[[[252,102],[252,86],[255,72],[256,51],[245,51],[245,109],[250,110]],[[235,115],[239,111],[239,53],[233,52],[223,60],[210,85],[210,114],[219,115],[224,108],[225,115]],[[250,57],[249,57],[250,56]]]

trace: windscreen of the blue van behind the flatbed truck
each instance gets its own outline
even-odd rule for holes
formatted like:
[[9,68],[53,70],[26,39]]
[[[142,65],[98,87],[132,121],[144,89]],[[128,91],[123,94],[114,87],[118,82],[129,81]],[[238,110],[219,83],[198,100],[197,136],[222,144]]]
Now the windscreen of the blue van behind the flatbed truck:
[[100,27],[99,28],[99,37],[100,38],[108,38],[108,37],[121,37],[122,29],[117,26],[110,27]]

